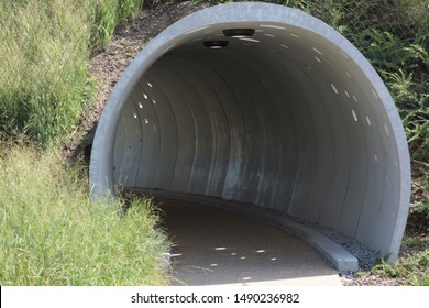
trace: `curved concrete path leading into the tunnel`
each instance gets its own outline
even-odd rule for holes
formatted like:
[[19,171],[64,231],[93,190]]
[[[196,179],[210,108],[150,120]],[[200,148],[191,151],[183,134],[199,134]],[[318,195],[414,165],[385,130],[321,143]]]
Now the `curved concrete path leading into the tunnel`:
[[156,204],[174,243],[170,285],[341,286],[317,252],[272,224],[197,202]]

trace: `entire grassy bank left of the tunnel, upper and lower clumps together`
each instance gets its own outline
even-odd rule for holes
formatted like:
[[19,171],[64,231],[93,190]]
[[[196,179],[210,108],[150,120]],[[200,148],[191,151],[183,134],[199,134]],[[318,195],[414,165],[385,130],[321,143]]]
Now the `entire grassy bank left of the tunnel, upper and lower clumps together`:
[[141,6],[0,2],[0,285],[166,283],[150,200],[127,213],[121,200],[91,204],[85,169],[58,151],[90,106],[91,53]]

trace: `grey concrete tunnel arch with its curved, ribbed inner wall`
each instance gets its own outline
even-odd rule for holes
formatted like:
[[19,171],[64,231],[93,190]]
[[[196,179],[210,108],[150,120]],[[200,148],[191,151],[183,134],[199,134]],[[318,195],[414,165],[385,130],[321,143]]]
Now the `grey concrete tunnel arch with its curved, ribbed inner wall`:
[[122,186],[255,205],[393,261],[410,163],[388,90],[346,38],[243,2],[179,20],[135,57],[98,123],[90,183],[94,197]]

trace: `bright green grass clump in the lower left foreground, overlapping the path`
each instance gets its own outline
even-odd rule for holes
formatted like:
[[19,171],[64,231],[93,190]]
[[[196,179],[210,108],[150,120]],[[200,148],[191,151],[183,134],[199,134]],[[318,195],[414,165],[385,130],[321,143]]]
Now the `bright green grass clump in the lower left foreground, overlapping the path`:
[[90,204],[56,151],[0,150],[0,285],[164,285],[151,201]]

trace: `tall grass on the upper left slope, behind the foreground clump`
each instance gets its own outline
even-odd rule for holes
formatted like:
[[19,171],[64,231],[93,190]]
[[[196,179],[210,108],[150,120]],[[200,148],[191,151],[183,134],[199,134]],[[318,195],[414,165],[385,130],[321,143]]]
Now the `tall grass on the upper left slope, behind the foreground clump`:
[[89,57],[143,0],[0,1],[0,139],[57,143],[90,106]]

